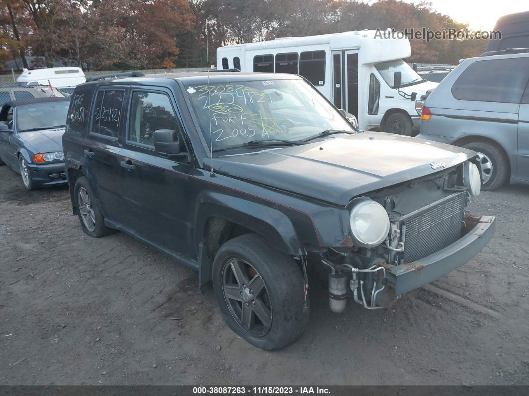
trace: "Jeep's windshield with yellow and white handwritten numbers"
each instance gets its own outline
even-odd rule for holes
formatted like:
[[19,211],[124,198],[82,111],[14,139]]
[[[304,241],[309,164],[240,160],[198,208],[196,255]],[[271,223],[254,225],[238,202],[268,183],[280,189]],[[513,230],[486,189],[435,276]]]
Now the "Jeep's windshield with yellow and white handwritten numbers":
[[352,131],[341,114],[302,80],[188,85],[186,90],[212,149],[270,139],[299,141],[329,129]]

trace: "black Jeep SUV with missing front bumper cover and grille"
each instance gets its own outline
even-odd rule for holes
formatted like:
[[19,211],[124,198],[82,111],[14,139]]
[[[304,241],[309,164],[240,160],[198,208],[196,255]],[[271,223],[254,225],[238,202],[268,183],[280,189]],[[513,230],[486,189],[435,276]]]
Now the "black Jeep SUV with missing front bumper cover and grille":
[[[63,136],[74,213],[213,282],[226,323],[279,349],[308,321],[307,266],[329,303],[367,309],[475,256],[494,217],[474,152],[355,130],[303,78],[185,73],[76,87]],[[317,273],[311,271],[309,273]]]

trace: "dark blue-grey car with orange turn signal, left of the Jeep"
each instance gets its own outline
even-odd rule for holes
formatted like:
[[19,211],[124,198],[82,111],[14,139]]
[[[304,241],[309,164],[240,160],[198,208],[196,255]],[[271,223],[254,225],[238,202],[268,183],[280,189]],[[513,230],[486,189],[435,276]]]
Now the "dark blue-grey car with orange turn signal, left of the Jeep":
[[69,98],[12,100],[0,112],[0,165],[20,173],[28,190],[66,183],[62,134]]

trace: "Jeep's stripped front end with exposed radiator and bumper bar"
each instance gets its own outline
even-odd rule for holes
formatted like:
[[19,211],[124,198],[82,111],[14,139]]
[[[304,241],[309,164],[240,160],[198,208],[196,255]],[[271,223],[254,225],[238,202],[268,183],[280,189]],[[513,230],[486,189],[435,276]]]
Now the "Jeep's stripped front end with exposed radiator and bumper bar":
[[[350,246],[330,247],[318,257],[330,267],[332,311],[343,312],[348,289],[366,309],[388,307],[479,253],[494,234],[495,218],[466,210],[479,195],[475,177],[471,183],[472,165],[466,162],[351,200],[351,236],[345,241]],[[368,205],[363,202],[370,202],[371,213],[358,210],[359,204]],[[387,220],[381,218],[380,207]],[[372,227],[373,219],[386,224]]]

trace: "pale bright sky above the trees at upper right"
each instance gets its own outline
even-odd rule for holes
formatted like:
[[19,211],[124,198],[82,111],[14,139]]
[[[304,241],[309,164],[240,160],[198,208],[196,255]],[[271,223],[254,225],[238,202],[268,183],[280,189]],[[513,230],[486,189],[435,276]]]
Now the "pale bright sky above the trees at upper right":
[[[404,0],[421,3],[421,0]],[[529,11],[527,0],[427,0],[434,11],[450,15],[454,21],[468,23],[472,29],[490,31],[500,16]]]

